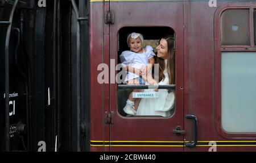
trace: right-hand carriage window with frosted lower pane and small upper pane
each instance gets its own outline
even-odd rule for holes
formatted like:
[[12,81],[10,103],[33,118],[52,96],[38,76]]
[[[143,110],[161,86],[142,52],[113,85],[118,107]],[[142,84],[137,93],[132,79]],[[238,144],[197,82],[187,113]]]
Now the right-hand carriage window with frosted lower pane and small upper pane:
[[250,7],[228,7],[215,19],[217,131],[229,138],[255,136],[256,14]]

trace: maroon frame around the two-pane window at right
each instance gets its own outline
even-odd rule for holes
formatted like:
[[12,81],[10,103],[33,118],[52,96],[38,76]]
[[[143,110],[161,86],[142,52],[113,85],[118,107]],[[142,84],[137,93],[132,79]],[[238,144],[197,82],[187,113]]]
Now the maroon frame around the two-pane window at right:
[[[249,37],[250,45],[221,45],[221,16],[226,10],[249,10]],[[227,139],[255,139],[256,132],[226,132],[221,122],[221,54],[222,52],[256,52],[254,44],[254,10],[255,2],[225,3],[214,15],[214,124],[218,134]],[[256,124],[256,122],[255,122]]]

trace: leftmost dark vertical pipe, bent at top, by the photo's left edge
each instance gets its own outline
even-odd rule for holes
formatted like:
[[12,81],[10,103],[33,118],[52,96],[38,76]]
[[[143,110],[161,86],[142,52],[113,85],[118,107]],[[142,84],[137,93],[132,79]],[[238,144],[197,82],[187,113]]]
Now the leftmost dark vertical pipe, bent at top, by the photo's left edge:
[[10,151],[10,119],[9,119],[9,42],[11,35],[11,26],[13,24],[13,15],[18,4],[18,0],[15,0],[13,7],[11,8],[10,18],[8,22],[0,22],[0,24],[9,24],[6,32],[5,39],[5,149]]

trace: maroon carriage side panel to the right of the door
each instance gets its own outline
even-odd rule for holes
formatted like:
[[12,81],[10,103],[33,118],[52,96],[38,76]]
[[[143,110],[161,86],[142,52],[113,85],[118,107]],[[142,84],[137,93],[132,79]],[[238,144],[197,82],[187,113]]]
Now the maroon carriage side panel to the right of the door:
[[[229,135],[226,137],[221,129],[221,80],[220,80],[220,12],[228,6],[251,6],[252,3],[218,3],[218,7],[209,7],[207,2],[189,4],[189,21],[187,36],[184,36],[185,63],[189,63],[189,103],[185,115],[193,114],[198,119],[198,145],[185,147],[185,151],[208,151],[212,148],[209,141],[217,143],[217,151],[255,151],[253,137]],[[205,13],[205,14],[201,14]],[[199,30],[200,29],[200,30]],[[189,39],[189,41],[186,41]],[[215,47],[215,48],[214,48]],[[230,50],[231,48],[229,48]],[[236,48],[234,50],[240,50]],[[243,48],[244,50],[245,48]],[[229,51],[227,49],[227,51]],[[250,51],[253,49],[249,49]],[[186,66],[186,64],[185,64]],[[185,78],[187,80],[187,78]],[[187,102],[187,101],[185,101]],[[186,140],[193,140],[193,123],[185,120]],[[247,134],[246,136],[250,136]],[[233,137],[233,138],[232,138]]]

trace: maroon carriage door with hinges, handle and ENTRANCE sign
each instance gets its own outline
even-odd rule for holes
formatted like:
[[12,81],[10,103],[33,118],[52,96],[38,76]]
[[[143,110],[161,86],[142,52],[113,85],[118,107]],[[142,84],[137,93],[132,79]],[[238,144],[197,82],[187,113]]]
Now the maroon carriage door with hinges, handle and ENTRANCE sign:
[[[110,108],[106,115],[110,127],[110,151],[183,151],[183,2],[110,1],[110,11],[105,13],[106,22],[110,23],[109,56],[112,83],[109,92]],[[164,87],[175,92],[175,105],[173,108],[170,107],[170,110],[167,109],[166,117],[127,117],[123,112],[126,100],[133,89],[124,88],[122,83],[118,84],[115,81],[114,77],[118,77],[118,70],[114,69],[120,63],[119,56],[122,51],[129,50],[126,37],[131,32],[143,34],[144,44],[153,48],[158,45],[162,35],[175,37],[175,85]],[[160,97],[155,95],[152,101],[156,101],[156,98]],[[171,101],[170,98],[161,100],[163,103]]]

